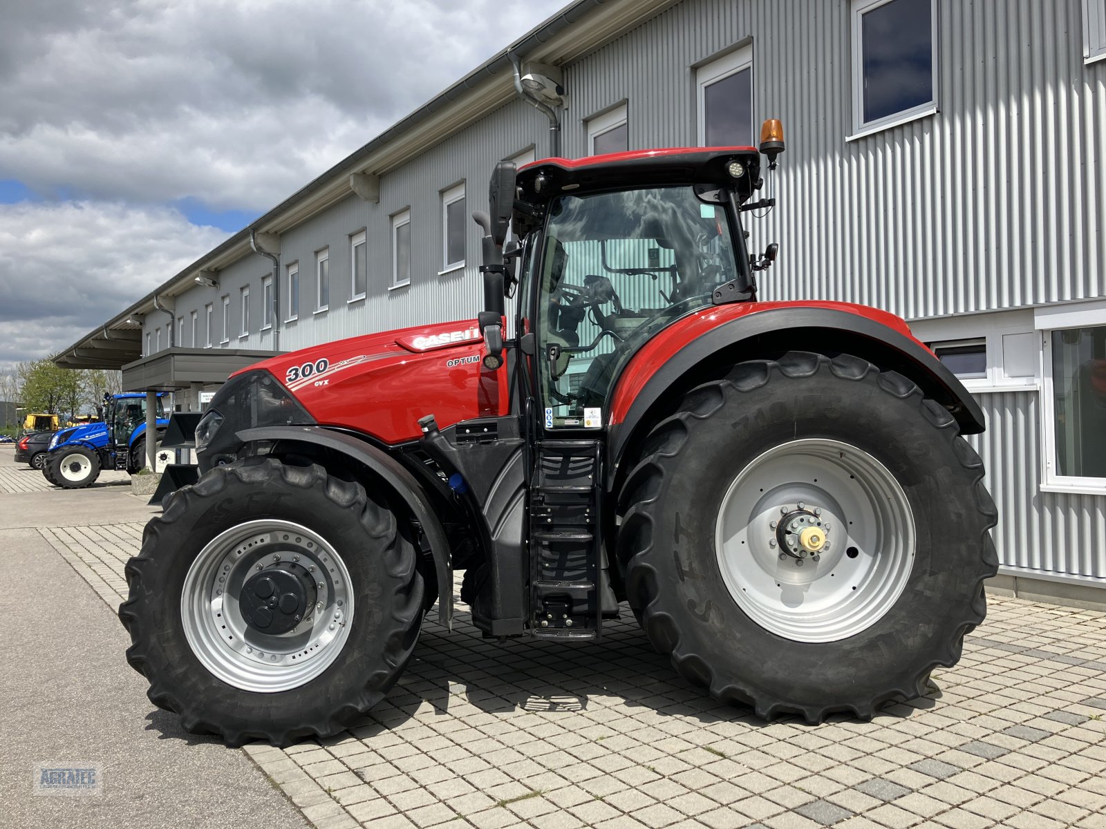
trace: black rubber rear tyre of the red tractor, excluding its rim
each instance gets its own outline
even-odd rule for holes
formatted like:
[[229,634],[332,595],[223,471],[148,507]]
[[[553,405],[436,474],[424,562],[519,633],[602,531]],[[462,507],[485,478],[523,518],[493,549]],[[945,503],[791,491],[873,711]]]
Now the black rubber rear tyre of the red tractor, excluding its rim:
[[[796,641],[754,621],[723,584],[716,552],[719,511],[739,471],[801,439],[878,460],[915,516],[901,594],[837,641]],[[690,391],[639,457],[620,497],[628,600],[657,650],[718,700],[763,718],[868,718],[889,700],[922,695],[931,670],[953,665],[964,633],[983,620],[983,581],[998,569],[983,464],[949,412],[899,374],[848,355],[742,363]]]

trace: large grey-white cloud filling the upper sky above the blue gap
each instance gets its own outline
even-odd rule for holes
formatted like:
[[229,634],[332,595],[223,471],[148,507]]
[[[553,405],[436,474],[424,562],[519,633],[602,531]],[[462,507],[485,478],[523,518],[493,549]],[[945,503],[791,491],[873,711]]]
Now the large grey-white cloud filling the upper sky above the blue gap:
[[0,27],[0,179],[263,210],[560,4],[18,3]]

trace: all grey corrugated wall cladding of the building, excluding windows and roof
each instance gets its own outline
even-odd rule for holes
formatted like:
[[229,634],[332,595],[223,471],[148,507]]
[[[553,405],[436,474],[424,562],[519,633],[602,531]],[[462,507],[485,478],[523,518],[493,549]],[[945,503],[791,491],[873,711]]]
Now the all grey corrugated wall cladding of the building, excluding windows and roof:
[[[749,221],[754,250],[781,245],[763,298],[845,300],[925,318],[1106,295],[1106,61],[1083,63],[1081,0],[938,0],[939,112],[854,140],[849,9],[849,0],[685,0],[564,67],[563,155],[584,155],[586,118],[624,101],[630,148],[696,144],[696,67],[751,43],[754,122],[781,117],[787,136],[779,207]],[[280,348],[472,318],[479,232],[469,224],[466,266],[439,274],[440,192],[465,181],[468,211],[481,209],[492,165],[533,145],[547,155],[547,136],[542,115],[512,102],[385,170],[378,204],[349,197],[285,232],[281,279],[299,262],[301,296]],[[405,208],[411,284],[389,291],[390,216]],[[349,237],[362,229],[367,296],[348,302]],[[323,246],[330,309],[313,314]],[[227,293],[229,347],[273,348],[257,332],[269,271],[251,254],[219,275],[219,290],[178,297],[176,314],[187,321],[197,308],[202,337],[213,302],[218,345]],[[239,339],[247,283],[253,330]],[[150,315],[146,329],[164,325]],[[1036,392],[980,399],[989,430],[974,442],[999,502],[1003,563],[1106,578],[1106,499],[1040,492]]]

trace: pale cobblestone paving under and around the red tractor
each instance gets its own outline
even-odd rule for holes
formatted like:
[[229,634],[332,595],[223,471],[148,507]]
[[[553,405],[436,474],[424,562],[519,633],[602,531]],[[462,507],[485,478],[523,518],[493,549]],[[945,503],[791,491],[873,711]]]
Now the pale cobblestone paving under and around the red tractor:
[[[140,531],[42,532],[114,608]],[[1106,613],[991,597],[926,697],[813,727],[716,704],[626,616],[583,647],[428,618],[356,727],[244,751],[320,829],[1106,827]]]

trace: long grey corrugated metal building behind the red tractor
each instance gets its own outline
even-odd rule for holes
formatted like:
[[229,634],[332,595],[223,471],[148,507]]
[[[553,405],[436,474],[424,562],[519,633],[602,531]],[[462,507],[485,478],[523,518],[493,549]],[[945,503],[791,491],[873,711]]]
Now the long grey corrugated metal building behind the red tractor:
[[[551,146],[509,54],[563,73],[568,157],[752,144],[782,118],[780,206],[749,225],[753,250],[781,245],[762,298],[911,321],[987,412],[1000,586],[1106,596],[1106,0],[574,2],[61,360],[472,316],[466,217],[497,160]],[[251,231],[279,258],[275,318]]]

